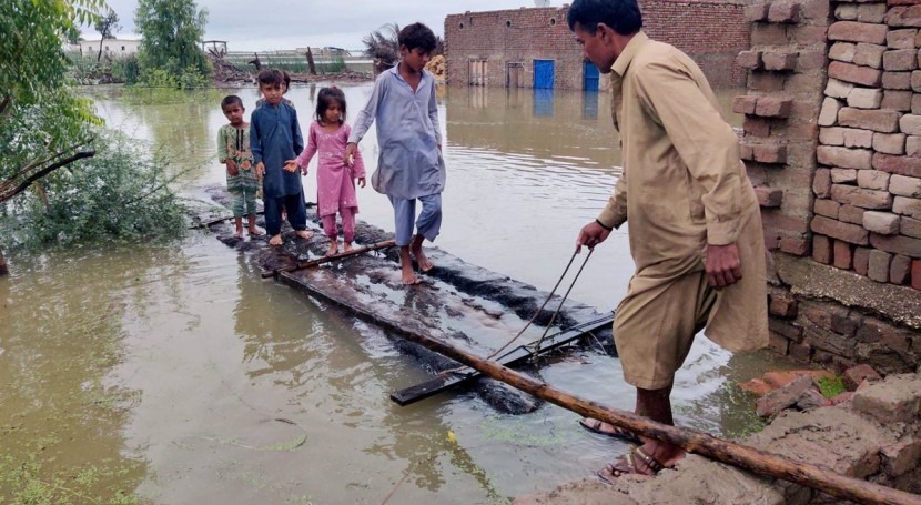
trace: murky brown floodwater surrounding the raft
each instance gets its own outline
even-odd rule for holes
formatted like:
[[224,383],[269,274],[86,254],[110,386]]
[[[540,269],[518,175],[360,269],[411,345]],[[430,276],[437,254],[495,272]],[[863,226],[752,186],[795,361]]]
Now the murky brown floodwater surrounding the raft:
[[[289,93],[304,130],[316,91]],[[371,87],[344,91],[354,118]],[[229,92],[247,111],[257,98]],[[213,95],[142,105],[118,94],[94,92],[99,112],[179,153],[176,169],[193,169],[182,178],[190,198],[223,181]],[[737,94],[720,91],[728,114]],[[436,245],[549,291],[618,176],[607,95],[441,97],[448,183]],[[373,166],[373,131],[361,148]],[[312,199],[313,173],[305,185]],[[360,202],[360,219],[393,230],[383,195],[368,186]],[[0,279],[0,502],[52,489],[51,503],[492,504],[590,476],[626,450],[551,405],[512,416],[455,392],[397,406],[392,391],[428,378],[414,358],[377,329],[261,280],[205,231],[169,245],[10,255],[12,275]],[[617,231],[571,297],[611,310],[631,270]],[[779,366],[700,339],[677,377],[677,422],[745,433],[757,425],[750,398],[729,385]],[[585,351],[539,374],[632,408],[617,360]]]

